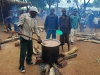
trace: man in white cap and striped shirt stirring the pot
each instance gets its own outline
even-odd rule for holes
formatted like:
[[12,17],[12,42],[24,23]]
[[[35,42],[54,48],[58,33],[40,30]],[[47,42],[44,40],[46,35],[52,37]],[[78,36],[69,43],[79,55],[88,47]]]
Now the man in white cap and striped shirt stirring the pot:
[[[32,37],[33,31],[36,32],[38,38],[40,39],[38,30],[37,30],[37,22],[36,22],[36,15],[38,13],[38,10],[36,7],[30,7],[29,13],[24,13],[20,16],[19,19],[19,29],[22,34],[28,35]],[[20,37],[20,65],[19,65],[19,70],[23,73],[25,72],[24,68],[24,60],[26,56],[26,50],[27,50],[27,56],[26,56],[26,63],[28,65],[35,64],[32,62],[32,39],[21,36]]]

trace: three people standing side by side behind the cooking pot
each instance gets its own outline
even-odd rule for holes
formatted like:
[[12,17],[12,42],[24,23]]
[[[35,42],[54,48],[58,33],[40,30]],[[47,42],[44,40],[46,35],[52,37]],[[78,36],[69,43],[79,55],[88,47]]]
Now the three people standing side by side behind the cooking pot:
[[52,39],[56,39],[56,30],[60,29],[63,32],[63,34],[60,35],[62,50],[64,50],[63,45],[65,43],[68,44],[68,50],[70,50],[70,43],[72,45],[74,43],[74,34],[77,33],[78,25],[80,25],[80,18],[76,10],[73,11],[73,15],[68,16],[66,14],[66,9],[62,9],[62,15],[58,18],[58,16],[54,14],[54,9],[52,8],[50,14],[46,16],[44,24],[47,33],[46,39],[50,39],[51,35]]

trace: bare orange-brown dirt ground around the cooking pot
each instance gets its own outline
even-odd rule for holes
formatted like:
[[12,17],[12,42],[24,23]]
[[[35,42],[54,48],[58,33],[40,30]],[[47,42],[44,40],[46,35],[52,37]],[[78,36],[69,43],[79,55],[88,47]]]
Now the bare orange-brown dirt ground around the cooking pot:
[[[39,21],[40,22],[40,21]],[[43,23],[40,22],[39,25]],[[10,34],[1,32],[2,26],[0,26],[0,39],[4,40]],[[90,33],[87,28],[84,33]],[[100,32],[100,29],[96,32]],[[45,32],[41,32],[41,38],[45,39]],[[35,38],[36,36],[33,35]],[[59,36],[57,35],[57,39]],[[0,50],[0,75],[41,75],[39,65],[27,65],[25,62],[24,74],[20,73],[19,66],[19,47],[15,47],[13,42],[9,42],[2,45]],[[37,44],[34,41],[35,44]],[[39,45],[39,44],[37,44]],[[41,49],[41,45],[40,49]],[[76,52],[77,57],[67,60],[67,65],[64,68],[59,68],[62,75],[100,75],[100,63],[96,62],[96,59],[100,59],[100,44],[89,43],[89,42],[78,42],[75,38],[74,45],[71,48],[77,46],[79,49]],[[61,50],[61,49],[60,49]],[[67,50],[67,45],[64,45],[64,50]],[[34,61],[34,56],[32,57]]]

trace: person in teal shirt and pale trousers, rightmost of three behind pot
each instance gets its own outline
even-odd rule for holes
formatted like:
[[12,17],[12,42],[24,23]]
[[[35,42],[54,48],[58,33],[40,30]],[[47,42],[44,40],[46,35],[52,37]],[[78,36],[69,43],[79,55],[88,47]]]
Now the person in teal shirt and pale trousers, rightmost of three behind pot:
[[80,19],[79,19],[79,16],[77,15],[76,10],[74,10],[74,13],[73,13],[73,15],[70,16],[70,19],[71,19],[70,41],[71,41],[71,45],[73,45],[74,34],[77,33],[78,24],[80,25]]

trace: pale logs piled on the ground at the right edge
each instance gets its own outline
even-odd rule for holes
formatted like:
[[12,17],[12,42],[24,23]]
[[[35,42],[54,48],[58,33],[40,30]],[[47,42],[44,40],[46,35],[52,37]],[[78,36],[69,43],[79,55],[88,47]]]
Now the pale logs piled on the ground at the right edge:
[[91,34],[77,33],[76,36],[77,36],[77,41],[100,44],[100,33],[91,33]]

